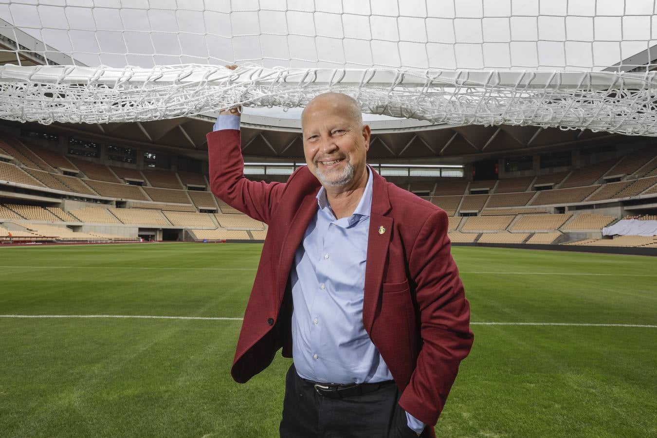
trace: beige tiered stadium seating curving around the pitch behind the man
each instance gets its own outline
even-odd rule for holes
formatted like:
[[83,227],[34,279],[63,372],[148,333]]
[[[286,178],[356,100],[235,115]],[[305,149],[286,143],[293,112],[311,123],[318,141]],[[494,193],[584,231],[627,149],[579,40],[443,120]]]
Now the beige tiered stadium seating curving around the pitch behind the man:
[[[128,201],[120,203],[120,206],[125,205],[127,208],[114,208],[112,204],[110,208],[89,206],[68,211],[59,207],[13,204],[11,200],[5,200],[11,203],[9,208],[0,206],[0,218],[5,221],[15,220],[17,224],[24,221],[52,223],[64,221],[99,225],[182,227],[196,230],[195,234],[190,233],[196,240],[203,238],[248,240],[252,236],[256,240],[261,240],[267,232],[265,224],[254,221],[225,202],[217,200],[211,192],[186,190],[187,186],[203,188],[208,186],[206,178],[200,173],[163,169],[140,171],[133,167],[98,164],[75,156],[70,157],[69,160],[67,156],[53,150],[30,143],[23,144],[11,138],[0,141],[0,152],[3,152],[2,160],[5,160],[0,160],[0,181],[13,181],[35,188],[48,187],[73,194],[100,195]],[[10,157],[16,161],[6,162]],[[79,169],[83,179],[62,175],[61,169],[70,171]],[[601,181],[603,177],[622,178],[622,181],[604,183]],[[126,179],[143,181],[145,185],[122,183]],[[578,214],[576,210],[575,215],[552,214],[545,209],[551,210],[551,206],[558,207],[579,202],[593,203],[607,200],[623,202],[623,198],[638,194],[654,195],[657,193],[657,156],[652,148],[644,148],[599,164],[537,177],[510,177],[486,181],[467,181],[455,177],[420,183],[402,183],[399,179],[395,180],[395,177],[391,179],[405,190],[415,192],[424,200],[444,209],[449,215],[449,235],[455,243],[553,244],[560,242],[562,238],[569,238],[570,235],[579,237],[579,234],[571,234],[573,231],[599,232],[602,227],[613,223],[616,217],[595,213]],[[596,184],[600,182],[602,184]],[[532,190],[537,185],[546,184],[556,188]],[[489,194],[472,194],[473,190],[484,189],[487,189]],[[545,206],[545,209],[533,208],[533,206]],[[568,207],[570,208],[572,207]],[[209,209],[217,213],[197,213],[197,209]],[[457,216],[459,212],[463,214],[478,212],[480,216],[460,217]],[[648,220],[647,218],[648,216],[641,217]],[[85,236],[61,227],[41,228],[42,231],[50,232],[53,232],[53,229],[70,238],[87,237],[117,241],[126,239],[108,233],[87,232]],[[518,232],[508,232],[509,230]],[[565,233],[562,234],[560,231]],[[69,232],[75,236],[70,236]],[[45,237],[53,238],[53,236]],[[135,237],[127,239],[134,240]],[[637,244],[631,244],[633,242],[631,239],[613,242],[616,240],[618,238],[586,239],[576,243],[591,242],[605,246],[639,244],[646,246],[657,243],[650,241],[646,244],[647,241],[641,239],[637,240],[639,242]]]

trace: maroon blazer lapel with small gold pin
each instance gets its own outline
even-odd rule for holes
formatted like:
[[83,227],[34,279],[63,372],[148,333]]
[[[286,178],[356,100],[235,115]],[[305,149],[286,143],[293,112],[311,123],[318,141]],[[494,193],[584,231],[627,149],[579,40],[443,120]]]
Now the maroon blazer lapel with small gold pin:
[[392,217],[386,216],[390,211],[390,199],[386,180],[374,169],[372,183],[372,210],[367,236],[367,263],[365,264],[365,292],[363,296],[363,326],[369,333],[374,323],[374,315],[383,280],[383,272],[388,263],[388,246],[393,233]]

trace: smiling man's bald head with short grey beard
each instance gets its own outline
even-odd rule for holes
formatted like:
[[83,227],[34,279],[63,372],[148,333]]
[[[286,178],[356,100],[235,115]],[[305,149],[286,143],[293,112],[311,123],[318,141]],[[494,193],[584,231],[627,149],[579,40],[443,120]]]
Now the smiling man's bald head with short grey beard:
[[325,187],[349,188],[365,171],[370,129],[340,99],[316,99],[302,120],[308,169]]

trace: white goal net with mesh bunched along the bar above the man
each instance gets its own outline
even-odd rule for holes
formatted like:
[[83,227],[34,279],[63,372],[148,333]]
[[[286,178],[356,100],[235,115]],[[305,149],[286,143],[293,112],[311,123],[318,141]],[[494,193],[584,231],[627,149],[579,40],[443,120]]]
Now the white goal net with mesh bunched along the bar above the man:
[[339,91],[363,112],[434,123],[657,135],[654,9],[652,0],[0,0],[0,117],[147,121],[293,108]]

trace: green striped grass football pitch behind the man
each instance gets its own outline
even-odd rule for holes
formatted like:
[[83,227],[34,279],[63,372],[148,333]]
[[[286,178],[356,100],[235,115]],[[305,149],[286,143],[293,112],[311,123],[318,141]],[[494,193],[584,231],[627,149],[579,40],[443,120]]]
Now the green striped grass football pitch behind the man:
[[[229,375],[261,248],[0,248],[0,436],[278,436],[291,360]],[[438,436],[657,436],[656,257],[453,255],[475,339]]]

